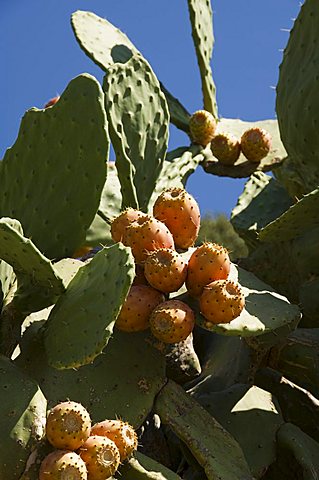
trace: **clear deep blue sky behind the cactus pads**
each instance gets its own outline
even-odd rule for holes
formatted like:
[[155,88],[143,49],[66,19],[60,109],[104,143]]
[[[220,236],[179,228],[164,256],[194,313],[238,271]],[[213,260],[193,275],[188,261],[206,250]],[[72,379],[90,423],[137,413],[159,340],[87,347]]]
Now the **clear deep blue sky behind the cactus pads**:
[[[243,120],[275,118],[278,66],[299,0],[212,0],[213,74],[219,114]],[[0,0],[0,158],[16,138],[20,119],[42,108],[83,72],[103,72],[79,48],[75,10],[90,10],[124,31],[185,107],[202,108],[200,77],[186,0]],[[170,149],[188,143],[175,127]],[[229,215],[244,180],[217,178],[200,168],[187,188],[202,212]]]

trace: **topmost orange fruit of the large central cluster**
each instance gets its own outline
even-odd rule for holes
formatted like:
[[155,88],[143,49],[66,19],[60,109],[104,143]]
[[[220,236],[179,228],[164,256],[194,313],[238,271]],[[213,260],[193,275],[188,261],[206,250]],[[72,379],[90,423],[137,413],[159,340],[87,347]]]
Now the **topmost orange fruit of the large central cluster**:
[[183,188],[168,188],[156,199],[153,215],[165,223],[172,233],[176,248],[194,245],[200,227],[200,211],[196,200]]

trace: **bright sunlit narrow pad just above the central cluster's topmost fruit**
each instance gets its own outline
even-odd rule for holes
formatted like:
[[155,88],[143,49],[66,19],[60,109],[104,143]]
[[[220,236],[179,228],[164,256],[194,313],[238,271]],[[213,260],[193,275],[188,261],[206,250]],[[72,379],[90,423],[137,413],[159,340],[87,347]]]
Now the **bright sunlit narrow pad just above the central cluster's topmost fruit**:
[[199,145],[179,147],[168,152],[149,203],[149,211],[152,212],[155,200],[166,188],[185,188],[188,177],[203,159]]

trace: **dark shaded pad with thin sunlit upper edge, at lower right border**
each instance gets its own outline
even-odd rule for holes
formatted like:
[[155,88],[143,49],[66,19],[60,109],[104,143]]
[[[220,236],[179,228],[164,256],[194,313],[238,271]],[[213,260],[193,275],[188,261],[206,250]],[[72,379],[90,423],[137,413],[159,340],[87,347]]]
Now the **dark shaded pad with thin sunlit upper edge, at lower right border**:
[[276,397],[286,422],[295,424],[319,441],[318,398],[269,367],[257,372],[255,384]]

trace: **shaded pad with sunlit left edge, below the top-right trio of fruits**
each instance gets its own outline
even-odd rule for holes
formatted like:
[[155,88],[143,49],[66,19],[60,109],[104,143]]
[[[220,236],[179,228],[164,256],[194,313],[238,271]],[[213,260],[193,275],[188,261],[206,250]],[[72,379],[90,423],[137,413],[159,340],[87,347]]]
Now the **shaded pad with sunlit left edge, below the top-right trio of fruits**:
[[254,173],[246,182],[243,193],[231,213],[231,224],[252,249],[258,232],[287,210],[292,199],[282,185],[263,172]]

